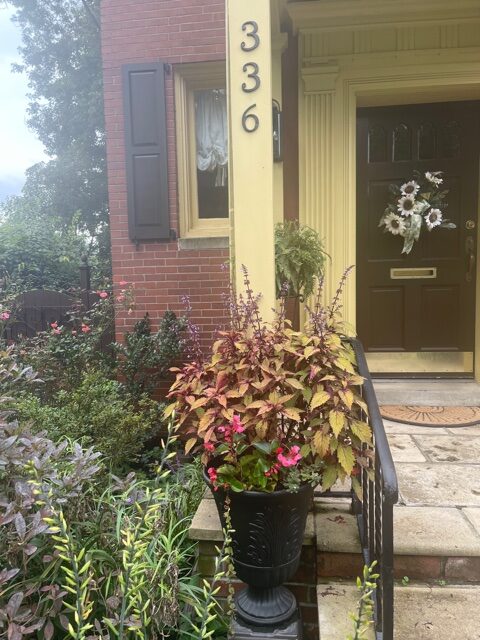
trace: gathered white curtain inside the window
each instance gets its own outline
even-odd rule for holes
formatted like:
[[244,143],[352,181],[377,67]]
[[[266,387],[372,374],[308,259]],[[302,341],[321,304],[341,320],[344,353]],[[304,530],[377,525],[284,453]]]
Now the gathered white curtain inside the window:
[[216,171],[215,186],[226,184],[228,162],[227,98],[222,89],[195,94],[197,167]]

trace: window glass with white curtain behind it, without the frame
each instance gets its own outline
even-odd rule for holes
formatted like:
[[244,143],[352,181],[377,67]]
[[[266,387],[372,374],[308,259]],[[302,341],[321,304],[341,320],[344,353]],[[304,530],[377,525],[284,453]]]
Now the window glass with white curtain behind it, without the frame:
[[195,91],[198,216],[228,218],[228,124],[224,89]]

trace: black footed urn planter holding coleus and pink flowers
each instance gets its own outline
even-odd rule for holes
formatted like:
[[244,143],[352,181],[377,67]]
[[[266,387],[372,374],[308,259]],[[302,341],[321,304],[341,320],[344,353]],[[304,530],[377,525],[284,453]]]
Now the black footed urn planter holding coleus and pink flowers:
[[[212,488],[208,479],[207,484]],[[213,491],[223,527],[226,495],[222,488]],[[233,564],[239,580],[247,584],[235,596],[236,618],[253,629],[288,625],[298,615],[298,606],[293,593],[282,585],[300,563],[313,489],[303,485],[296,493],[229,491],[228,495]]]

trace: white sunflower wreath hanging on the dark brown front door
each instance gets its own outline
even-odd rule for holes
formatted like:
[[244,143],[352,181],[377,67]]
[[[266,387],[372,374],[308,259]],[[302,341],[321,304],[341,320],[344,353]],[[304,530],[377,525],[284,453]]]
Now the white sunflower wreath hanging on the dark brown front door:
[[456,225],[443,217],[444,202],[448,190],[441,191],[441,171],[414,171],[413,180],[401,187],[390,185],[395,201],[387,206],[379,227],[385,232],[403,238],[402,253],[410,253],[414,242],[420,238],[422,227],[432,231],[436,227],[455,229]]

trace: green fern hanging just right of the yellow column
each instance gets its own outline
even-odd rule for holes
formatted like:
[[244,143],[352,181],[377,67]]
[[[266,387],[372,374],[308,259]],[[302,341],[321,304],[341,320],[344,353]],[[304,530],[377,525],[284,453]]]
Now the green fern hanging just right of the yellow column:
[[275,227],[275,281],[277,298],[313,293],[320,279],[326,253],[318,233],[310,227],[287,221]]

